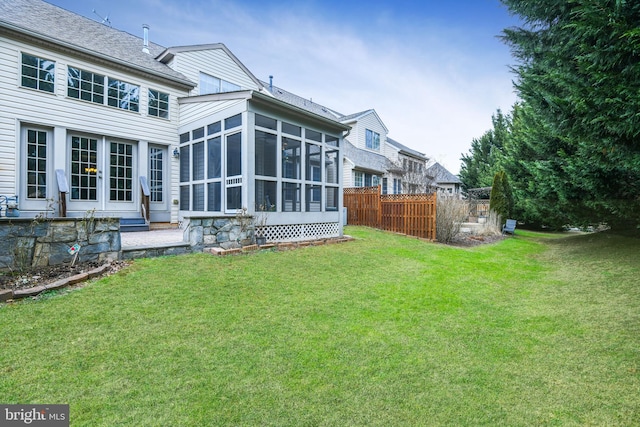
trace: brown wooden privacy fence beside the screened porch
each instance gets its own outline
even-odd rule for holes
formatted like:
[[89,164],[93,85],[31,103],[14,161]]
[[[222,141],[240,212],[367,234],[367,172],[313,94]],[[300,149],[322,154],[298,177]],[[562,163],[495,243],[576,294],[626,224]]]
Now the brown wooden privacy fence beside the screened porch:
[[380,187],[344,189],[347,224],[436,239],[436,194],[380,194]]

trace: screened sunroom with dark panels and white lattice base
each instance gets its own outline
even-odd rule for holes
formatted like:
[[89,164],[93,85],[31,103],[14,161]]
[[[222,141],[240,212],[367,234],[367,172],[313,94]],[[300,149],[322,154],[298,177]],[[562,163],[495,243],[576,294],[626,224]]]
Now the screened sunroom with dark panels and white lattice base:
[[271,242],[342,235],[349,126],[253,90],[179,103],[180,221],[248,217]]

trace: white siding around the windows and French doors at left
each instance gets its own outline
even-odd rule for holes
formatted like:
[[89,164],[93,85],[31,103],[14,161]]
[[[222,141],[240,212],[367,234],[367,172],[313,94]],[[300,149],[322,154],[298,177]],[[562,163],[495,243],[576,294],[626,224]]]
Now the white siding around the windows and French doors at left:
[[[20,87],[20,52],[56,62],[55,93]],[[140,86],[139,112],[125,111],[107,105],[67,97],[67,65]],[[149,88],[170,95],[169,119],[147,115]],[[55,150],[66,150],[64,135],[82,132],[95,136],[147,142],[156,145],[177,145],[180,120],[178,97],[187,96],[187,90],[148,81],[121,69],[76,59],[67,54],[34,47],[12,39],[0,38],[0,194],[17,192],[15,182],[20,146],[20,124],[27,123],[56,129],[53,135]],[[62,130],[62,131],[61,131]],[[62,140],[60,140],[62,139]],[[59,155],[55,155],[59,159]],[[63,157],[64,158],[64,157]],[[173,162],[176,163],[177,162]],[[63,165],[57,165],[61,167]],[[144,166],[146,168],[146,166]],[[171,164],[166,185],[177,185],[176,165]],[[51,177],[53,179],[53,177]],[[137,183],[137,176],[135,177]],[[175,196],[171,194],[171,198]],[[172,209],[172,205],[169,207]]]

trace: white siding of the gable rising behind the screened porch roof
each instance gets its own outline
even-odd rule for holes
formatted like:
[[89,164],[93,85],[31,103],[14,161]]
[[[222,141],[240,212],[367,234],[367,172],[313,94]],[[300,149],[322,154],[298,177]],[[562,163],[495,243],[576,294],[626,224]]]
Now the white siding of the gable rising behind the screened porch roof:
[[[253,79],[223,49],[179,52],[176,54],[174,67],[195,83],[200,82],[200,72],[203,72],[237,84],[242,89],[259,89]],[[191,91],[191,95],[199,94],[199,87]]]

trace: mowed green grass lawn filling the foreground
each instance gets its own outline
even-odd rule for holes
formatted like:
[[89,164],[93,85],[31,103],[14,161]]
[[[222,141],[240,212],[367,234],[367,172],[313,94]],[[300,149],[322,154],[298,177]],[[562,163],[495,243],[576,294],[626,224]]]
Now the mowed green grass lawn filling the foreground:
[[640,241],[146,259],[0,308],[0,402],[76,426],[637,425]]

